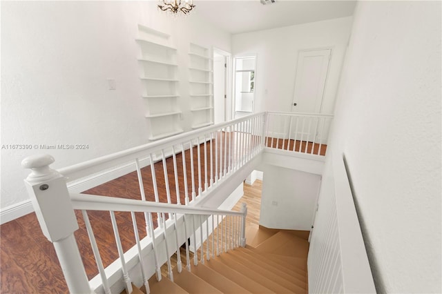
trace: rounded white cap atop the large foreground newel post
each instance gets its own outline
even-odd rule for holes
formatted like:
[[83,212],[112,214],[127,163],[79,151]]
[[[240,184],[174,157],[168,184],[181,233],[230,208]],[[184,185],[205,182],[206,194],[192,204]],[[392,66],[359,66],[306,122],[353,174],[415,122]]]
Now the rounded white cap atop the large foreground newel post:
[[57,170],[49,167],[55,162],[54,157],[48,154],[31,155],[21,161],[23,168],[30,168],[32,172],[26,178],[30,183],[44,182],[59,177]]

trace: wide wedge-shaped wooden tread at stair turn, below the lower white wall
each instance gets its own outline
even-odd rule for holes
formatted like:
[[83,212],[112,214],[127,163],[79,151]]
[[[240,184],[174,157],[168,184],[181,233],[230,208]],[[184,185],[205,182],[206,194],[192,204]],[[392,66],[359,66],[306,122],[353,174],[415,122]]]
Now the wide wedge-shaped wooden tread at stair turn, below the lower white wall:
[[309,242],[284,231],[278,232],[258,246],[258,253],[278,253],[291,257],[306,257],[309,252]]

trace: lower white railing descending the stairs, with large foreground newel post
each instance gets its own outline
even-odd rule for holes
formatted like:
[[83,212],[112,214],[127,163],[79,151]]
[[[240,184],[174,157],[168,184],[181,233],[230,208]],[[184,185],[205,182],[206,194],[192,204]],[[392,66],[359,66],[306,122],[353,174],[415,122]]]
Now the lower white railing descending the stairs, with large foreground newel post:
[[[120,233],[118,230],[117,220],[115,218],[115,212],[130,212],[132,216],[133,228],[135,232],[135,243],[138,257],[140,258],[140,266],[142,272],[143,284],[146,286],[148,291],[146,268],[143,260],[142,246],[140,245],[138,227],[136,224],[135,213],[144,213],[148,215],[148,220],[150,222],[148,228],[153,228],[151,222],[151,214],[157,213],[162,214],[162,228],[157,228],[156,230],[151,229],[151,237],[146,237],[149,243],[153,246],[153,251],[155,255],[155,271],[157,273],[157,279],[161,280],[160,266],[157,258],[157,246],[158,243],[155,242],[155,238],[161,237],[164,240],[164,249],[166,251],[166,259],[168,264],[168,276],[169,279],[173,281],[173,273],[171,269],[171,253],[169,253],[169,248],[176,246],[176,251],[180,251],[180,244],[187,242],[189,236],[189,224],[186,224],[186,216],[191,216],[193,218],[197,217],[200,222],[198,227],[194,227],[192,233],[194,236],[198,235],[198,230],[200,231],[200,262],[204,263],[204,239],[202,237],[202,231],[204,228],[207,232],[207,242],[206,242],[206,258],[209,258],[209,220],[213,220],[214,216],[236,217],[242,219],[242,226],[240,228],[234,228],[231,231],[231,235],[238,234],[241,236],[242,240],[245,239],[245,217],[247,215],[247,209],[242,208],[242,211],[230,211],[230,210],[219,210],[219,209],[208,209],[200,208],[198,206],[184,206],[181,204],[166,204],[157,202],[146,202],[143,200],[136,199],[123,199],[99,195],[87,195],[79,193],[68,193],[66,188],[66,182],[64,177],[57,173],[56,170],[52,170],[49,165],[54,162],[54,159],[49,155],[38,155],[35,157],[29,157],[23,162],[23,166],[30,168],[32,173],[26,179],[26,186],[28,186],[28,191],[32,196],[32,202],[35,205],[37,217],[41,228],[51,242],[54,243],[57,256],[59,257],[59,262],[61,268],[64,271],[64,276],[68,284],[69,291],[71,293],[90,293],[89,282],[86,277],[86,271],[84,265],[81,262],[81,256],[79,254],[79,249],[73,236],[73,232],[77,230],[77,219],[75,217],[74,210],[81,210],[84,216],[86,229],[90,238],[90,244],[95,255],[95,261],[97,268],[99,269],[99,276],[102,279],[102,285],[104,286],[104,292],[110,293],[110,287],[108,278],[104,271],[102,264],[102,258],[99,254],[97,241],[95,239],[95,233],[93,232],[92,226],[90,224],[90,219],[88,217],[88,210],[101,210],[108,211],[111,215],[111,222],[113,226],[113,231],[115,233],[115,242],[117,244],[117,249],[119,252],[119,261],[121,262],[121,269],[124,278],[124,284],[126,285],[127,293],[132,292],[131,278],[128,274],[128,268],[125,262],[125,253],[122,249],[122,242],[120,240]],[[56,204],[57,209],[53,204]],[[171,224],[166,224],[166,219],[164,217],[165,213],[173,215],[167,222]],[[180,225],[177,225],[180,222]],[[205,223],[205,226],[204,226]],[[230,222],[231,223],[231,222]],[[217,224],[218,225],[218,224]],[[173,228],[174,234],[168,234],[168,228]],[[229,238],[231,238],[229,235]],[[180,239],[178,236],[182,236]],[[170,238],[175,238],[175,242]],[[228,244],[228,240],[224,239],[224,248],[231,246]],[[218,246],[218,244],[217,244]],[[222,246],[222,245],[221,245]],[[235,244],[237,247],[238,244]],[[231,246],[233,248],[233,246]],[[156,251],[156,252],[155,252]],[[195,251],[195,256],[198,253]],[[189,246],[186,246],[186,256],[189,260]],[[188,266],[190,269],[190,266]],[[179,269],[179,271],[181,271]]]

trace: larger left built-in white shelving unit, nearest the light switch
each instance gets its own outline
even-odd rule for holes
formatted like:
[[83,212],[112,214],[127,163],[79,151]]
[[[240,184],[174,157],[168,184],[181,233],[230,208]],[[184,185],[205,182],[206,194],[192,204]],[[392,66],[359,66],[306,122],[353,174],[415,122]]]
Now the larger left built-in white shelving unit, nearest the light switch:
[[180,110],[177,99],[177,49],[171,44],[171,36],[138,25],[140,46],[140,79],[146,105],[149,139],[157,140],[183,132],[180,125]]

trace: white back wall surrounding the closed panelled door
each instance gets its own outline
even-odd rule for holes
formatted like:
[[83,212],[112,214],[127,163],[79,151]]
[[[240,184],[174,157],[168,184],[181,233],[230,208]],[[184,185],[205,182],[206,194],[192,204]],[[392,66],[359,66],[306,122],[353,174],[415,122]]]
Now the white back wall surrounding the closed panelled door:
[[345,17],[233,35],[233,55],[256,55],[254,111],[291,111],[298,50],[330,47],[323,112],[333,112],[351,26]]

